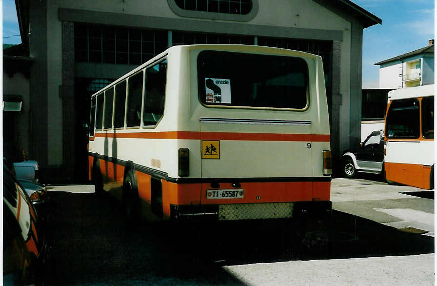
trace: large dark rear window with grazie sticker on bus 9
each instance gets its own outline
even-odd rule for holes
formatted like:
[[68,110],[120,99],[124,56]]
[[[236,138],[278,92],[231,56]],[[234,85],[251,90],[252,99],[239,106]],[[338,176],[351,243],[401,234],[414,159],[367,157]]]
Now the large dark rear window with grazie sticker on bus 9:
[[202,51],[198,84],[209,106],[308,107],[308,66],[297,57]]

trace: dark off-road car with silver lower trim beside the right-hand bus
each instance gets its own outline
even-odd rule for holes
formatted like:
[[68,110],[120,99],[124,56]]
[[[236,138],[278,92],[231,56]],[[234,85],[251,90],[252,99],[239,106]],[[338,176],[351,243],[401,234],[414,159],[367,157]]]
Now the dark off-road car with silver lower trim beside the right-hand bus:
[[342,175],[355,178],[357,172],[384,173],[384,132],[373,131],[360,144],[357,153],[345,152],[342,157]]

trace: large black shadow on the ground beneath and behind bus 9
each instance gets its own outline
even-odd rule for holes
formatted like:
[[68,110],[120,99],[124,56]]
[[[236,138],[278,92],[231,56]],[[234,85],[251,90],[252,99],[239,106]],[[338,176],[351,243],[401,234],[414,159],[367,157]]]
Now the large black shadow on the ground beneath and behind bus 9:
[[52,192],[46,285],[242,285],[222,265],[434,252],[434,238],[333,211],[323,220],[126,221],[109,196]]

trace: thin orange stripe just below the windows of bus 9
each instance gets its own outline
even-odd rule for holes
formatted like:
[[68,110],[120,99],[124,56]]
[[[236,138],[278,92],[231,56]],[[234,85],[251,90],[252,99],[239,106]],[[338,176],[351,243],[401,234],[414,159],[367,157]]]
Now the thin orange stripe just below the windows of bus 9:
[[[108,136],[109,135],[109,136]],[[308,141],[329,142],[328,134],[286,134],[286,133],[238,133],[238,132],[130,132],[96,133],[96,137],[137,139],[182,139],[182,140],[236,140],[236,141]]]

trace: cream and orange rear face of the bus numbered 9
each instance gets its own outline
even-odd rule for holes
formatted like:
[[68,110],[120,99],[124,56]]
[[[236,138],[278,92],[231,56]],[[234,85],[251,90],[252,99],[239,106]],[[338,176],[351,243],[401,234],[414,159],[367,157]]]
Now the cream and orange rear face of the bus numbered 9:
[[202,207],[174,202],[171,215],[285,218],[299,202],[329,208],[331,177],[323,173],[329,119],[320,59],[247,46],[193,46],[187,54],[190,73],[181,82],[189,83],[189,101],[179,98],[179,119],[185,110],[188,118],[179,122],[199,137],[178,144],[190,152],[189,176],[179,180],[200,188]]

